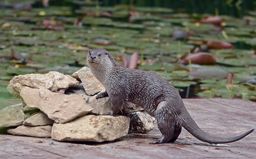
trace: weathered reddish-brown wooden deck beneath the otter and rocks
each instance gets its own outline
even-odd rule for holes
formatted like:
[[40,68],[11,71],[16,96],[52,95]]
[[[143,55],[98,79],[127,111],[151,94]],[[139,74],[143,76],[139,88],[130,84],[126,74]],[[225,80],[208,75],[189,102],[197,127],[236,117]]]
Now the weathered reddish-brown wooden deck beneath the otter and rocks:
[[[199,127],[219,137],[238,136],[256,128],[256,103],[240,99],[184,99]],[[58,142],[50,138],[0,135],[0,159],[149,159],[256,158],[256,131],[229,144],[207,144],[184,128],[172,144],[149,144],[161,133],[128,134],[112,142]],[[191,138],[186,138],[191,136]],[[50,143],[55,145],[50,145]]]

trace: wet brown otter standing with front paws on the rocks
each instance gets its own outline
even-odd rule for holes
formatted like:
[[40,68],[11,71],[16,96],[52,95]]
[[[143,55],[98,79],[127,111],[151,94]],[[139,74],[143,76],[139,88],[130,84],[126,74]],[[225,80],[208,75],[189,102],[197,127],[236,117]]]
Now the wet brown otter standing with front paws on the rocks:
[[210,136],[193,121],[175,87],[159,75],[124,67],[105,49],[89,50],[87,63],[94,76],[106,88],[106,92],[100,93],[96,98],[109,96],[112,103],[112,110],[103,115],[116,115],[126,102],[131,102],[157,119],[162,137],[150,141],[150,144],[174,142],[182,127],[197,139],[209,144],[238,141],[254,130],[231,138]]

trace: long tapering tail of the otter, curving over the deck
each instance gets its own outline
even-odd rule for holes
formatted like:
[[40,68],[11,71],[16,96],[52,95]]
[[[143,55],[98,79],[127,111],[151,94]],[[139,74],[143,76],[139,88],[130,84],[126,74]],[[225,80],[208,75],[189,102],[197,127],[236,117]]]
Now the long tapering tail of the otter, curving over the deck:
[[197,139],[210,143],[210,144],[224,144],[224,143],[230,143],[230,142],[235,142],[240,140],[241,138],[246,137],[249,133],[253,132],[254,129],[236,137],[232,138],[219,138],[219,137],[214,137],[210,136],[204,131],[202,131],[193,121],[193,118],[189,115],[188,111],[184,111],[185,115],[185,120],[183,120],[182,126],[193,136],[195,136]]

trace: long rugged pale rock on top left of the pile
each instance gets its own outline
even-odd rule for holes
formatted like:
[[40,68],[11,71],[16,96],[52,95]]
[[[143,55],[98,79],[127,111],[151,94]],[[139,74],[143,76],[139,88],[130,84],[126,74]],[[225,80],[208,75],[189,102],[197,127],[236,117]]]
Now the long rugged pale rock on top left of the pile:
[[51,71],[47,74],[25,74],[15,76],[10,80],[7,90],[14,97],[20,97],[19,94],[24,87],[47,89],[56,92],[77,85],[79,85],[79,82],[75,78],[60,72]]

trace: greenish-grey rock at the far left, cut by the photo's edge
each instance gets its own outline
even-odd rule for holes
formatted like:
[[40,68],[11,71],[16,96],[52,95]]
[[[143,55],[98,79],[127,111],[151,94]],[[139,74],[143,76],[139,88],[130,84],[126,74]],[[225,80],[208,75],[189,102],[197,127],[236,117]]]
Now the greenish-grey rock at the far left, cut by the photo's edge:
[[24,122],[23,104],[11,105],[0,110],[0,128],[19,126]]

